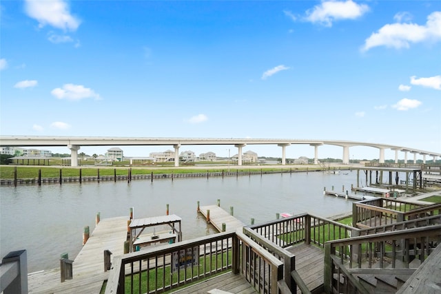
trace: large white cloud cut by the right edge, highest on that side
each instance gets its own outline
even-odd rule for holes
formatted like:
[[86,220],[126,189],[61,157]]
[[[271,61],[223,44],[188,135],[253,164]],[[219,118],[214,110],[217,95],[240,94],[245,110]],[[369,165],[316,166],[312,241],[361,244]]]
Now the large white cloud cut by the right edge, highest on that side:
[[416,23],[392,23],[384,25],[366,39],[362,51],[373,47],[409,48],[410,43],[441,40],[441,12],[433,12],[425,25]]

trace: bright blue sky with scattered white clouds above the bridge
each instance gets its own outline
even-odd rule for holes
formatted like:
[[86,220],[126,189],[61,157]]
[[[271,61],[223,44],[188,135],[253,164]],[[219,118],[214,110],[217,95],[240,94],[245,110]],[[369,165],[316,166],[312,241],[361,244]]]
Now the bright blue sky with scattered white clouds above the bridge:
[[[1,1],[0,12],[1,135],[355,140],[441,152],[440,1]],[[281,156],[276,146],[247,150]],[[314,147],[286,152],[313,157]],[[341,156],[319,148],[320,158]],[[378,149],[351,147],[353,157]]]

